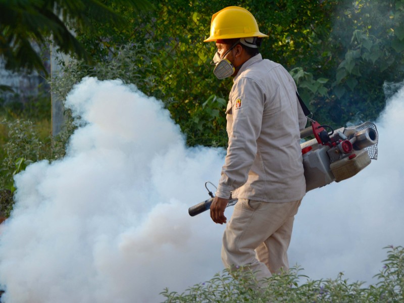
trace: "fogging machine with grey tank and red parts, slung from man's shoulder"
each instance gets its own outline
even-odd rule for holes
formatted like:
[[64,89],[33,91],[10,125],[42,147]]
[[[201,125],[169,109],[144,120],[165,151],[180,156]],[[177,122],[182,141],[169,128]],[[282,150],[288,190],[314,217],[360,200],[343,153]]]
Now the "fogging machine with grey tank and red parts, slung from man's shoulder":
[[[299,101],[302,104],[300,98]],[[305,111],[304,104],[302,108]],[[314,135],[314,139],[300,144],[306,192],[333,181],[340,182],[355,176],[367,167],[372,159],[377,159],[379,135],[375,124],[365,122],[357,126],[333,130],[330,126],[320,125],[317,121],[308,119],[311,121],[311,127],[300,131],[300,138]],[[189,215],[195,216],[209,210],[213,201],[211,192],[210,195],[210,199],[190,207]],[[230,198],[227,206],[236,203],[236,198]]]

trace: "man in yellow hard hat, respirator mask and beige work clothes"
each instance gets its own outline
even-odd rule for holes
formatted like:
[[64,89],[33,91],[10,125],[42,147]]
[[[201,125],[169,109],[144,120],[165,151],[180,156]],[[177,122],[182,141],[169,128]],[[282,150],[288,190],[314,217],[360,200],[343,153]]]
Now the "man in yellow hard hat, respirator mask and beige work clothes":
[[306,193],[299,144],[305,117],[289,73],[259,54],[261,33],[247,10],[214,14],[211,35],[218,48],[214,74],[233,76],[226,109],[229,145],[211,218],[223,224],[229,197],[238,198],[223,235],[226,267],[248,267],[257,279],[288,269],[294,215]]

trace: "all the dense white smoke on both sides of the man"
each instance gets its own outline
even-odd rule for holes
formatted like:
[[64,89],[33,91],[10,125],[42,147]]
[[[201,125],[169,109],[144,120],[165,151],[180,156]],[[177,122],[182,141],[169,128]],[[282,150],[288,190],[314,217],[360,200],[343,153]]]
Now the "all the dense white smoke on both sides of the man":
[[[165,287],[182,292],[220,272],[224,226],[187,209],[208,198],[224,150],[186,147],[162,103],[119,80],[85,78],[66,104],[85,122],[67,156],[16,176],[17,203],[1,226],[4,301],[158,302]],[[401,90],[377,121],[379,160],[307,194],[291,265],[313,279],[343,271],[370,281],[382,247],[403,243],[403,118]]]

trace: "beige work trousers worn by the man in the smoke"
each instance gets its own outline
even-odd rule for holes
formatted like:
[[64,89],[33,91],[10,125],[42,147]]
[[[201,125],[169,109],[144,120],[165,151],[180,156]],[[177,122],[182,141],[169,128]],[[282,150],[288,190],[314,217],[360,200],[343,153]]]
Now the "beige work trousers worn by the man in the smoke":
[[287,249],[300,200],[268,203],[239,199],[223,235],[225,267],[248,267],[257,279],[289,269]]

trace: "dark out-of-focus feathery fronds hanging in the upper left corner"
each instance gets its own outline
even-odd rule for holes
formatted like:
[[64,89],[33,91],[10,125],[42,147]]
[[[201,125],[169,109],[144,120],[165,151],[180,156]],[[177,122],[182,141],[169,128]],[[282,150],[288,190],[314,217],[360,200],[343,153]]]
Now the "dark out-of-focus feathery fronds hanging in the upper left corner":
[[[135,11],[151,8],[146,0],[120,0],[116,3]],[[0,55],[5,60],[6,69],[28,72],[38,70],[46,73],[32,42],[45,47],[51,34],[53,42],[63,53],[90,62],[91,57],[66,25],[68,22],[73,29],[94,31],[90,18],[108,20],[111,25],[119,28],[125,26],[121,16],[113,8],[96,0],[1,0]]]

